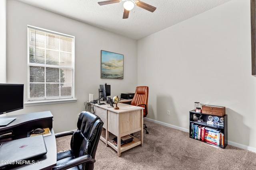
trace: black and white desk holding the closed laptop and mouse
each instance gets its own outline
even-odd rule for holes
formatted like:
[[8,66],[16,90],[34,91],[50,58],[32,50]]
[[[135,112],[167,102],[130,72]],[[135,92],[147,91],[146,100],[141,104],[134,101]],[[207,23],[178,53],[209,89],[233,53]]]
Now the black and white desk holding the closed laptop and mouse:
[[12,136],[0,138],[0,143],[28,137],[28,132],[36,128],[49,127],[52,133],[52,135],[44,137],[45,145],[47,148],[47,153],[45,155],[37,158],[35,160],[35,164],[23,164],[21,166],[12,168],[12,170],[50,170],[53,166],[56,166],[57,149],[56,139],[52,129],[52,113],[50,111],[42,111],[22,115],[4,116],[0,117],[0,119],[8,117],[16,117],[16,119],[9,123],[7,126],[0,127],[0,133],[12,131]]

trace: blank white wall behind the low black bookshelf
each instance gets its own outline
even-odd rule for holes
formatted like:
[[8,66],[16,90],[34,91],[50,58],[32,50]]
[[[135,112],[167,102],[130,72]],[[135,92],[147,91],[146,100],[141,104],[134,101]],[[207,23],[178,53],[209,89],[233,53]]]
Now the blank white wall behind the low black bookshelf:
[[148,118],[189,129],[194,102],[225,106],[229,144],[256,151],[250,43],[250,0],[232,0],[140,39],[138,85],[149,86]]

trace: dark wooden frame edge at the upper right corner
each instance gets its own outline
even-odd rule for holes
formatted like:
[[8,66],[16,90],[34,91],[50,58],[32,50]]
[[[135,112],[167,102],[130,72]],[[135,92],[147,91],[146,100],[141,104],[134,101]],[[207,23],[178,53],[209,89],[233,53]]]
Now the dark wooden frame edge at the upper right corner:
[[256,75],[256,0],[251,0],[252,75]]

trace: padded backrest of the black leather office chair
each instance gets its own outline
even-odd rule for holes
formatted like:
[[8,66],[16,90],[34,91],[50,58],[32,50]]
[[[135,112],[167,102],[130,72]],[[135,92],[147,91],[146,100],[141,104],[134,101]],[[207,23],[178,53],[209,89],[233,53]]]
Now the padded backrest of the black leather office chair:
[[[88,111],[82,111],[79,115],[77,128],[74,132],[70,147],[73,155],[77,158],[89,154],[95,158],[103,121],[97,115]],[[80,169],[93,169],[94,164],[86,163]]]

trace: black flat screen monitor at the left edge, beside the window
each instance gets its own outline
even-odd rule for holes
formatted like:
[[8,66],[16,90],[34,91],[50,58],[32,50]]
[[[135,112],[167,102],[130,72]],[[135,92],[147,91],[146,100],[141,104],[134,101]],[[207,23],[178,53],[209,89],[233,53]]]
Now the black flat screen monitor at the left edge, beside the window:
[[0,84],[0,114],[23,109],[24,84]]

